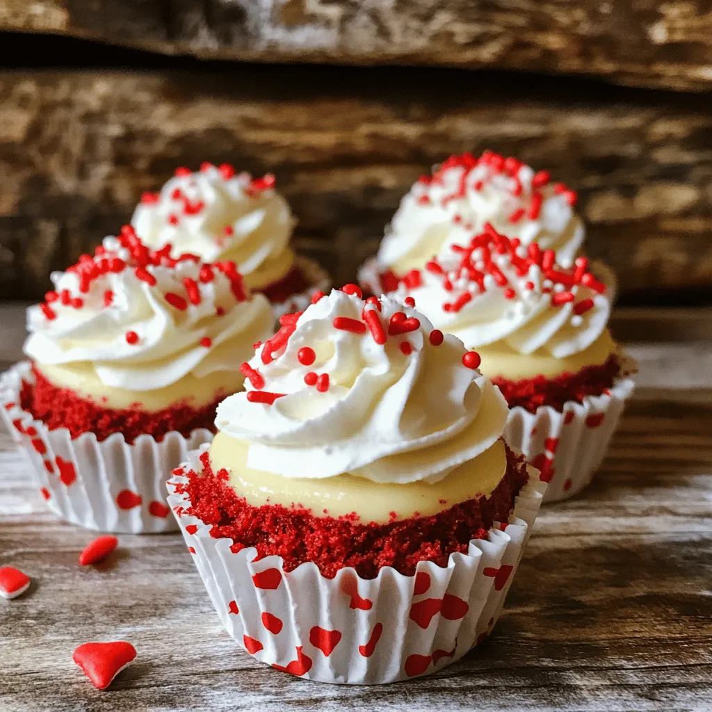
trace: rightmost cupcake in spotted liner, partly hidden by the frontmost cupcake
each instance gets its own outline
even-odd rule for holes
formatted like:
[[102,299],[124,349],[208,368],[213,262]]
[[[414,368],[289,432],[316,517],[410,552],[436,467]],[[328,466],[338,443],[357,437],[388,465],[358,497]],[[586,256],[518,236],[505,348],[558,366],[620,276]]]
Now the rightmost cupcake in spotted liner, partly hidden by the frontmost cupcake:
[[579,492],[633,389],[632,362],[607,328],[607,288],[587,258],[567,268],[555,251],[486,224],[413,275],[397,294],[477,350],[511,408],[505,439],[549,481],[546,501]]

